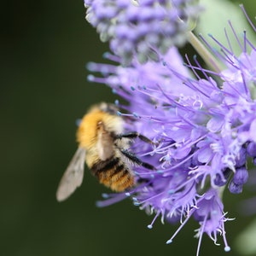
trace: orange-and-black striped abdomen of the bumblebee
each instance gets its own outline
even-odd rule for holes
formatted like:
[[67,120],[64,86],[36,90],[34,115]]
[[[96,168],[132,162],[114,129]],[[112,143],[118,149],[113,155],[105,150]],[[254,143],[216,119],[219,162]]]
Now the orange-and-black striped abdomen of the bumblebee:
[[90,169],[100,183],[114,191],[121,192],[134,185],[133,173],[118,156],[98,160]]

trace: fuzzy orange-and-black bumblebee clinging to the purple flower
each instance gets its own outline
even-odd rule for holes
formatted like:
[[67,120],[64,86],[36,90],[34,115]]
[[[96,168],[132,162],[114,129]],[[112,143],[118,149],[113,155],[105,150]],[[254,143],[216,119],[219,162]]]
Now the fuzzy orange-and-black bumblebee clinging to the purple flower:
[[79,148],[61,177],[57,201],[66,200],[81,185],[84,161],[100,183],[116,192],[135,185],[131,164],[154,170],[154,166],[143,162],[128,149],[135,138],[154,143],[138,132],[125,133],[124,124],[125,120],[117,115],[117,108],[111,104],[102,102],[90,108],[79,124]]

